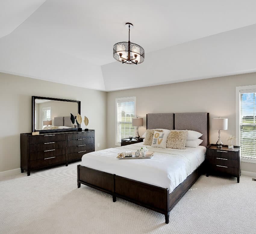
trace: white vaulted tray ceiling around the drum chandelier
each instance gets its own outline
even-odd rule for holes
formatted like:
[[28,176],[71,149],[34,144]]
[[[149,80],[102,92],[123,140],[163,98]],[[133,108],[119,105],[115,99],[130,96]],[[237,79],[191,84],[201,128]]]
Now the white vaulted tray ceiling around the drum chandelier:
[[[106,91],[250,72],[255,8],[254,0],[3,0],[0,72]],[[127,41],[126,22],[145,49],[142,64],[112,57]]]

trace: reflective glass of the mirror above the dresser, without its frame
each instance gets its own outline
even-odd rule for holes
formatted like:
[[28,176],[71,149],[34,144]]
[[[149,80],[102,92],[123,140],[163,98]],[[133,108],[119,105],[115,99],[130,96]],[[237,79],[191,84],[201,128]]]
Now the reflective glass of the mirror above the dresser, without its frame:
[[35,126],[36,130],[76,128],[70,120],[70,113],[74,116],[78,112],[78,103],[36,99]]

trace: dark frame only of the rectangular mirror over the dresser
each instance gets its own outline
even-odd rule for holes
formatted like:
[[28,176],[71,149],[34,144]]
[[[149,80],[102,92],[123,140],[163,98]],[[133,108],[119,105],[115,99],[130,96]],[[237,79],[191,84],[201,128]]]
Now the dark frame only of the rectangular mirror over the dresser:
[[76,101],[76,100],[67,100],[67,99],[60,99],[60,98],[53,98],[53,97],[38,97],[38,96],[32,96],[32,131],[33,132],[44,132],[44,133],[49,133],[49,132],[63,132],[63,131],[78,131],[77,128],[68,128],[68,129],[50,129],[50,130],[36,130],[35,126],[35,101],[36,99],[47,99],[47,100],[52,100],[52,101],[63,101],[63,102],[76,102],[78,104],[78,114],[81,115],[81,101]]

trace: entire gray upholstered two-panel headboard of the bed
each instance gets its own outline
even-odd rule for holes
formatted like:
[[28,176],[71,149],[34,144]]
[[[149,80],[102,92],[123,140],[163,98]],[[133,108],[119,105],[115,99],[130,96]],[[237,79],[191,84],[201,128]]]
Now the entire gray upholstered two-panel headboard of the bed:
[[203,134],[201,146],[209,145],[209,113],[155,113],[147,114],[147,129],[193,130]]

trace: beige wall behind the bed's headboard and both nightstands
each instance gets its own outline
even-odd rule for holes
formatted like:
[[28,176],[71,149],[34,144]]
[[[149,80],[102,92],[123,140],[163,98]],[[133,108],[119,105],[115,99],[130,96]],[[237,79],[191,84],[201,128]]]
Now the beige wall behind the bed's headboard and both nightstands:
[[[256,85],[256,73],[108,92],[107,145],[115,147],[115,98],[132,96],[136,96],[137,116],[144,118],[140,135],[146,130],[147,113],[209,112],[210,143],[218,139],[217,130],[211,129],[211,119],[221,116],[228,118],[228,130],[221,133],[227,144],[226,137],[236,134],[236,86],[244,85]],[[256,172],[256,164],[242,162],[242,170]]]

